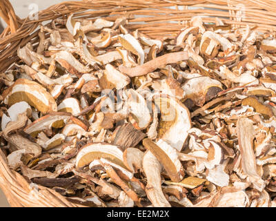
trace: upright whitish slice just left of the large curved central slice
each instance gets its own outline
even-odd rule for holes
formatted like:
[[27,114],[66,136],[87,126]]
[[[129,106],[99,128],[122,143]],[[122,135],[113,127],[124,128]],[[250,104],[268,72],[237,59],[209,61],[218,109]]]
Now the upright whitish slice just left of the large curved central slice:
[[144,130],[152,120],[146,100],[133,89],[127,90],[126,95],[128,96],[126,106],[130,108],[130,122],[137,130]]

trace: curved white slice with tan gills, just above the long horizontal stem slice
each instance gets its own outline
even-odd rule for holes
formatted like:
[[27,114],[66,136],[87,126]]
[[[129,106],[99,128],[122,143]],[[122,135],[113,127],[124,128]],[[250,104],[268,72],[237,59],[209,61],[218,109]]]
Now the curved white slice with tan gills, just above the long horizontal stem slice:
[[130,34],[126,34],[123,36],[119,36],[119,41],[121,42],[121,46],[126,48],[126,50],[130,50],[133,54],[139,57],[139,65],[144,64],[145,53],[143,48],[139,44],[139,41],[137,41],[135,37]]

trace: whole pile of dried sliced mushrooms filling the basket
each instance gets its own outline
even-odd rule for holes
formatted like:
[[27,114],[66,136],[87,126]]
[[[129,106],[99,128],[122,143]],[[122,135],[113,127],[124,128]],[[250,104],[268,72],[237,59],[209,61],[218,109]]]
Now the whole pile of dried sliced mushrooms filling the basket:
[[55,19],[0,75],[1,150],[84,206],[276,206],[276,38],[194,17]]

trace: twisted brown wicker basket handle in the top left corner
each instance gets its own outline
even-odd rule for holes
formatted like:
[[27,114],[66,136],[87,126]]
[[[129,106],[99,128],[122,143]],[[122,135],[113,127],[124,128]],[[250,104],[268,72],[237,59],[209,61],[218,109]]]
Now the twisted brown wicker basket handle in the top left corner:
[[17,21],[18,17],[15,15],[14,9],[9,0],[0,1],[0,17],[7,23],[12,34],[17,32],[17,29],[19,28],[19,23]]

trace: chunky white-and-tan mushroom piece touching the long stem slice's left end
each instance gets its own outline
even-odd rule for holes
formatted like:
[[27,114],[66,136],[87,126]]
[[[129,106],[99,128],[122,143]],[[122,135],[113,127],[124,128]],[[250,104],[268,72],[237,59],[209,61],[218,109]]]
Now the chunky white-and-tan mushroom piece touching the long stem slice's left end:
[[119,72],[119,70],[111,64],[107,64],[103,76],[99,79],[99,84],[103,89],[116,88],[117,90],[120,90],[130,84],[130,78]]

